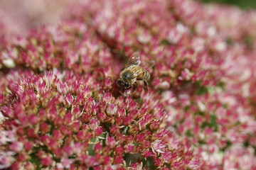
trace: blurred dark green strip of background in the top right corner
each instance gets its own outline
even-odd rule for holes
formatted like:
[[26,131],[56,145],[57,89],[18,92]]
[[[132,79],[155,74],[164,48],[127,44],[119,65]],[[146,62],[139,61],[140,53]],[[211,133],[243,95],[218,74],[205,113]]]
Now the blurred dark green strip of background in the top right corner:
[[229,4],[240,6],[244,9],[256,8],[256,0],[200,0],[204,3],[221,3],[221,4]]

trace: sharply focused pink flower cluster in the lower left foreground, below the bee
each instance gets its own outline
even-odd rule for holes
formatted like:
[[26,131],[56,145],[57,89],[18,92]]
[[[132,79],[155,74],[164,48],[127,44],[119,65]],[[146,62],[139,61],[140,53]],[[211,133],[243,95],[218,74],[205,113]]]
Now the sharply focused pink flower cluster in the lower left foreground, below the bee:
[[[160,128],[160,106],[96,94],[85,77],[68,71],[16,77],[1,108],[1,169],[137,169],[149,157],[163,168],[196,164],[188,142]],[[129,155],[139,159],[124,160]]]

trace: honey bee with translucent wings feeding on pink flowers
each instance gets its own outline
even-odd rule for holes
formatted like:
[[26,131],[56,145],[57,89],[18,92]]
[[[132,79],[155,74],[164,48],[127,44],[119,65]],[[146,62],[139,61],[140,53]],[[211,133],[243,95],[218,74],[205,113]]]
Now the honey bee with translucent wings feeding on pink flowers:
[[134,52],[127,63],[127,67],[120,73],[119,79],[117,80],[117,85],[122,90],[126,91],[133,86],[132,92],[134,92],[138,86],[137,80],[142,80],[144,81],[144,91],[148,91],[147,81],[150,79],[148,70],[154,66],[155,62],[146,62],[146,67],[144,68],[140,64],[139,52]]

